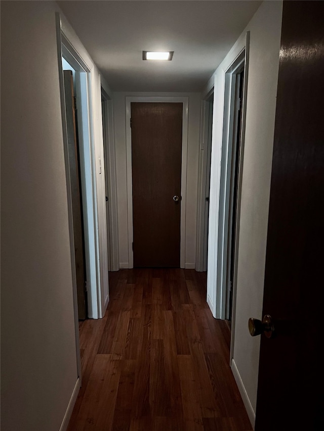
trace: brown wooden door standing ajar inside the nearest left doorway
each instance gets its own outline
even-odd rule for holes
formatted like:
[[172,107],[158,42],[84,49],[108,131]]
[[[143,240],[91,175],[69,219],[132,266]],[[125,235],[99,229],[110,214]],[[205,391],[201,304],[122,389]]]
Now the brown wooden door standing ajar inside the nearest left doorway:
[[72,219],[74,256],[76,270],[77,309],[79,320],[87,317],[85,260],[84,260],[84,232],[82,202],[80,193],[80,176],[78,162],[78,143],[76,115],[74,105],[73,77],[70,70],[64,70],[65,115],[67,125],[69,175],[71,185]]

